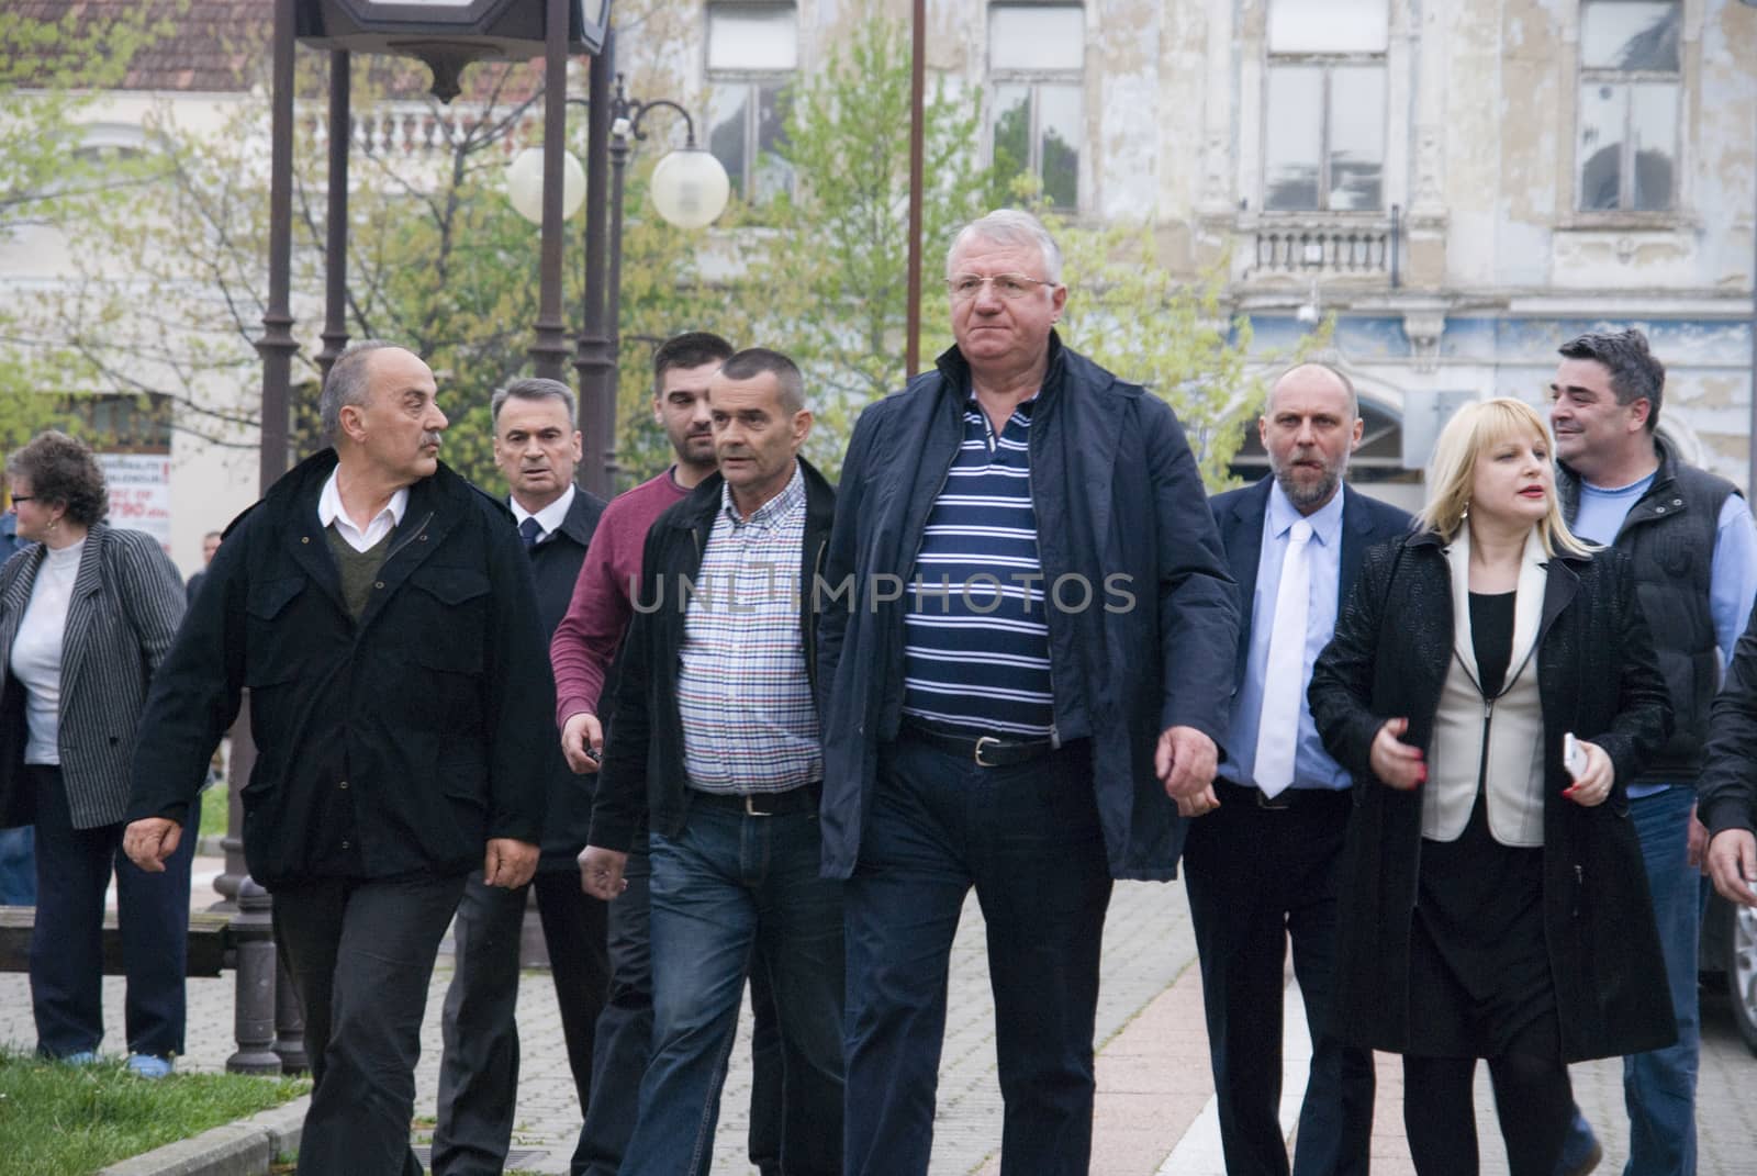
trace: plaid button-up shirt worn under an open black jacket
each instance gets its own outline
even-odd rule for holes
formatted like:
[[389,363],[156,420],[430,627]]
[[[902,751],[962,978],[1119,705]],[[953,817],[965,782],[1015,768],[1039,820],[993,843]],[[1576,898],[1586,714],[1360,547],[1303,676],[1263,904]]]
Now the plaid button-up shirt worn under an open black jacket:
[[784,793],[824,779],[799,638],[805,475],[738,517],[729,487],[683,615],[676,710],[683,766],[708,793]]

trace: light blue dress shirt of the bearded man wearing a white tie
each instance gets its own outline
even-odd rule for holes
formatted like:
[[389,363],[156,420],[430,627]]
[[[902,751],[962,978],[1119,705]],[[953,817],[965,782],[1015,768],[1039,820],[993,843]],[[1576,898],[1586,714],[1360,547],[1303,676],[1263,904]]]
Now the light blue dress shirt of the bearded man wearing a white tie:
[[[1337,585],[1342,578],[1342,496],[1318,512],[1305,515],[1312,524],[1307,552],[1311,561],[1311,599],[1305,606],[1305,657],[1300,670],[1300,733],[1293,751],[1293,788],[1349,786],[1349,775],[1323,749],[1318,724],[1312,722],[1304,684],[1311,682],[1318,654],[1335,635]],[[1263,673],[1269,666],[1269,642],[1276,628],[1276,594],[1281,591],[1281,563],[1288,554],[1288,533],[1298,522],[1300,512],[1288,501],[1279,483],[1269,487],[1269,510],[1263,512],[1263,550],[1256,561],[1256,592],[1251,596],[1251,650],[1244,661],[1244,680],[1232,708],[1232,738],[1226,744],[1226,763],[1221,777],[1233,784],[1254,786],[1256,731],[1263,717]]]

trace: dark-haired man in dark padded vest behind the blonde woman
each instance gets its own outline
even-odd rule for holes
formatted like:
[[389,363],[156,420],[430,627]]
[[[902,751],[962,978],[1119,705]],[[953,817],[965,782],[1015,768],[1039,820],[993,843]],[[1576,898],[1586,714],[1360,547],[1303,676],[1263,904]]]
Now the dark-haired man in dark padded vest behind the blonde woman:
[[[1583,334],[1564,345],[1550,385],[1562,513],[1580,538],[1634,561],[1676,715],[1671,742],[1629,782],[1678,1044],[1623,1058],[1625,1176],[1696,1172],[1697,865],[1706,840],[1696,819],[1696,782],[1710,703],[1757,596],[1750,510],[1738,487],[1678,459],[1655,432],[1664,385],[1666,367],[1639,330]],[[1576,1111],[1558,1171],[1592,1171],[1599,1157]]]

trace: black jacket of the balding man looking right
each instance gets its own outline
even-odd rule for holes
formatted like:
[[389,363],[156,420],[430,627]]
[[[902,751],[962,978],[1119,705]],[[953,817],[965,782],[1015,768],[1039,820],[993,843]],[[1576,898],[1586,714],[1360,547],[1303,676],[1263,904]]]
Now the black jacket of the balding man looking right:
[[511,512],[446,466],[408,512],[357,624],[306,459],[227,531],[153,679],[128,819],[184,821],[249,687],[244,858],[269,886],[480,868],[536,842],[553,684]]

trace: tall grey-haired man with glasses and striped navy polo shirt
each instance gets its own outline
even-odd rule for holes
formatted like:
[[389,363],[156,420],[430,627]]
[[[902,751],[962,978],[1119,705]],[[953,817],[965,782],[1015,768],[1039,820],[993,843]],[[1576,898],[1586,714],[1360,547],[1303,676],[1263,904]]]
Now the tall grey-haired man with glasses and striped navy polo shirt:
[[1114,877],[1214,807],[1237,589],[1163,401],[1061,345],[1054,239],[965,227],[956,346],[854,429],[819,591],[849,1176],[928,1171],[952,935],[987,925],[1001,1171],[1088,1171]]

